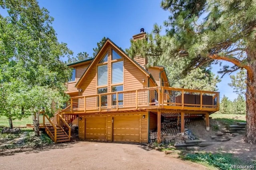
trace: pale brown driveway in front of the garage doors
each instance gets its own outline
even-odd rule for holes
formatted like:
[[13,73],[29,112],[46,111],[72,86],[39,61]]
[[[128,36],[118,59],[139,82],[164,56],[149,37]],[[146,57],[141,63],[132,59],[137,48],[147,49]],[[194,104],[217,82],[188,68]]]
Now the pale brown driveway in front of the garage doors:
[[[25,150],[25,149],[24,149]],[[56,144],[24,152],[0,152],[1,170],[200,170],[204,166],[135,144],[75,142]]]

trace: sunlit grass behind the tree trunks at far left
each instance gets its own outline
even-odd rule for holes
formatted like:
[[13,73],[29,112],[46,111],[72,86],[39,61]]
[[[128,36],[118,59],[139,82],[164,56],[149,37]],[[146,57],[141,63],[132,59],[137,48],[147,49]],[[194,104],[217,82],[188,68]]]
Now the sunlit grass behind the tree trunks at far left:
[[[13,127],[26,127],[26,124],[32,124],[32,117],[22,118],[21,120],[12,120]],[[9,127],[9,120],[5,116],[0,117],[0,127]]]

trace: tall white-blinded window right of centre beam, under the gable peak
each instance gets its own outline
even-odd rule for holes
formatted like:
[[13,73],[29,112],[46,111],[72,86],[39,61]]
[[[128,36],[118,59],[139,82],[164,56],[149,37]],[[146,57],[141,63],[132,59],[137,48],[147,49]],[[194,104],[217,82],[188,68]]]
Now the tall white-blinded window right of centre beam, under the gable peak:
[[124,61],[112,63],[112,84],[124,81]]

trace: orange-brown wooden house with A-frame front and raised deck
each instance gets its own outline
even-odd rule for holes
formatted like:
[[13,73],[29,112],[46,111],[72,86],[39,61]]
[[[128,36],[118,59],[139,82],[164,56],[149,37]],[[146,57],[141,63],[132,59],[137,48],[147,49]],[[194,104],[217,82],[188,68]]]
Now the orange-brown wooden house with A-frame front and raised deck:
[[[144,30],[133,36],[134,41],[141,38],[146,38]],[[163,121],[174,120],[183,132],[186,117],[205,117],[209,130],[219,93],[169,87],[164,67],[146,64],[146,59],[131,59],[107,39],[96,57],[68,65],[73,68],[67,83],[71,99],[58,114],[58,125],[78,124],[83,140],[139,143],[148,142],[154,129],[161,142]]]

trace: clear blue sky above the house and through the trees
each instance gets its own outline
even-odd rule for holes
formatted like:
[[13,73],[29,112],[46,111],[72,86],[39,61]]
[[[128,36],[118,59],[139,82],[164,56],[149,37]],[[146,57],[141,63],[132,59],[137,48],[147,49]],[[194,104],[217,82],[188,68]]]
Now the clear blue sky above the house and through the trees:
[[[104,36],[122,49],[129,48],[140,28],[151,32],[153,25],[163,25],[169,14],[160,8],[160,0],[39,0],[39,5],[50,12],[59,42],[67,43],[74,56],[82,51],[92,55]],[[219,69],[213,66],[215,74]],[[233,100],[237,95],[228,83],[228,75],[218,83],[220,98],[226,95]]]

